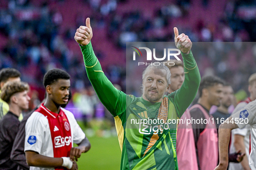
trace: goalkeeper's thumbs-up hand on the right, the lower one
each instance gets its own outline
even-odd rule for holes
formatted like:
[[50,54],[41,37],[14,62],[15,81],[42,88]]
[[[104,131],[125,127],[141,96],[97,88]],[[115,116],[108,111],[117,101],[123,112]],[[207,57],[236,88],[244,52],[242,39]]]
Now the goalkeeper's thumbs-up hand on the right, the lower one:
[[178,28],[176,27],[174,27],[173,30],[175,35],[174,41],[175,41],[176,47],[179,50],[181,50],[182,53],[189,54],[190,49],[192,47],[192,42],[188,38],[188,35],[185,35],[183,33],[181,35],[178,35]]

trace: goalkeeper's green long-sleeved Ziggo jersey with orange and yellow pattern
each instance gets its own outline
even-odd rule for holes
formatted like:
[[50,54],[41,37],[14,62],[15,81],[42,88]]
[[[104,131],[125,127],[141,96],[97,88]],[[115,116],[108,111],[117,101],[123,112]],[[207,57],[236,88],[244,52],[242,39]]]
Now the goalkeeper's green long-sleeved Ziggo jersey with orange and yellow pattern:
[[181,53],[185,72],[181,88],[165,95],[162,102],[150,102],[127,95],[112,85],[101,69],[91,42],[81,46],[81,50],[87,76],[115,119],[122,151],[120,169],[178,170],[176,120],[194,100],[201,80],[192,53]]

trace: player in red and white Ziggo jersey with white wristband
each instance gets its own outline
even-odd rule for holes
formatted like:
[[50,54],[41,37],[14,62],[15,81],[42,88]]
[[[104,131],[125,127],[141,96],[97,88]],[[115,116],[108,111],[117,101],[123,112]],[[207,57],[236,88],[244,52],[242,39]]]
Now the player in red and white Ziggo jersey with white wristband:
[[[42,104],[26,123],[25,153],[30,170],[77,170],[75,160],[91,144],[74,115],[61,107],[68,102],[70,76],[52,69],[44,76],[47,92]],[[73,147],[73,143],[78,147]]]

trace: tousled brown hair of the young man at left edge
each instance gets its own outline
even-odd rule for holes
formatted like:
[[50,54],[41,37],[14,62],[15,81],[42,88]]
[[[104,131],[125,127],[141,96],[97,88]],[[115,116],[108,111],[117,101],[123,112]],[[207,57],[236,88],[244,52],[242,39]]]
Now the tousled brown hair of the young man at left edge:
[[1,99],[6,103],[10,103],[10,98],[13,96],[13,94],[28,90],[29,85],[26,82],[7,82],[3,86]]

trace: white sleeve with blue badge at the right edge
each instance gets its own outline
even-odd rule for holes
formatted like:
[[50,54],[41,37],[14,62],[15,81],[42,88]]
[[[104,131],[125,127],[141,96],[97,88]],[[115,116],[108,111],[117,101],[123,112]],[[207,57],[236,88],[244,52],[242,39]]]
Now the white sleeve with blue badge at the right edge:
[[[237,124],[237,126],[242,129],[247,124],[254,125],[256,124],[256,100],[251,101],[249,104],[246,105],[243,109],[237,111],[232,115],[233,121]],[[238,123],[237,123],[238,120]]]

